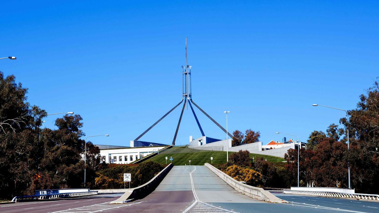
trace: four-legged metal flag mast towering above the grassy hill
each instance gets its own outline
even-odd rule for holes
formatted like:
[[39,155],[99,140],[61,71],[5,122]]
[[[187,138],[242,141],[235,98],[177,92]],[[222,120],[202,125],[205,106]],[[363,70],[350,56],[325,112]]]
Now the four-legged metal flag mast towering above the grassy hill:
[[[175,107],[173,107],[170,111],[168,111],[166,114],[164,114],[164,116],[162,116],[160,119],[158,119],[157,122],[155,122],[153,125],[151,125],[149,128],[147,128],[147,130],[145,130],[145,132],[143,132],[136,139],[134,139],[135,141],[138,141],[139,138],[141,138],[143,135],[145,135],[147,132],[149,132],[149,130],[151,128],[153,128],[155,125],[157,125],[164,117],[166,117],[168,114],[170,114],[173,110],[175,110],[175,108],[177,108],[183,101],[184,101],[184,104],[183,104],[182,112],[180,113],[180,117],[179,117],[178,125],[176,127],[174,139],[172,140],[172,144],[171,144],[172,146],[175,145],[176,136],[177,136],[178,131],[179,131],[180,122],[182,121],[184,108],[186,107],[187,102],[189,104],[189,107],[191,108],[193,116],[196,119],[196,123],[199,126],[199,129],[200,129],[202,136],[205,136],[205,134],[204,134],[203,129],[201,128],[200,122],[197,119],[197,116],[195,114],[195,111],[193,110],[191,103],[193,103],[193,105],[195,105],[202,113],[204,113],[205,116],[207,116],[211,121],[213,121],[213,123],[215,123],[219,128],[221,128],[222,131],[227,133],[230,137],[233,137],[229,132],[227,132],[227,130],[224,127],[222,127],[220,124],[218,124],[210,115],[208,115],[204,110],[202,110],[202,108],[200,108],[195,102],[193,102],[192,92],[191,92],[191,90],[192,90],[192,88],[191,88],[191,68],[192,68],[192,66],[189,66],[187,64],[187,37],[186,37],[186,66],[185,67],[182,66],[182,73],[183,73],[183,75],[182,75],[182,94],[183,94],[182,100],[180,100],[180,102],[177,105],[175,105]],[[187,105],[187,110],[188,110],[188,105]]]

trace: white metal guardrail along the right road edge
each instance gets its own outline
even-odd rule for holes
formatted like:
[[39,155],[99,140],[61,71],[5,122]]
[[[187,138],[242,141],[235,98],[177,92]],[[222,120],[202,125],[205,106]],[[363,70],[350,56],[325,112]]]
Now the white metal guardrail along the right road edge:
[[307,194],[307,195],[319,195],[325,197],[346,197],[346,198],[358,198],[366,200],[379,200],[378,194],[359,194],[359,193],[338,193],[327,191],[298,191],[298,190],[283,190],[286,194]]

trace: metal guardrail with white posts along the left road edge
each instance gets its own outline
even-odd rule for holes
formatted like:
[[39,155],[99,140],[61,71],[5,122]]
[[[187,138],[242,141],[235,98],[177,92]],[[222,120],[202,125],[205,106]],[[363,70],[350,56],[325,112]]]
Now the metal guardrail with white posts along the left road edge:
[[20,200],[32,201],[32,200],[41,200],[41,199],[55,199],[61,197],[80,197],[87,195],[95,195],[97,191],[85,191],[85,192],[68,192],[68,193],[56,193],[56,194],[33,194],[26,196],[16,196],[13,197],[11,202],[17,202]]

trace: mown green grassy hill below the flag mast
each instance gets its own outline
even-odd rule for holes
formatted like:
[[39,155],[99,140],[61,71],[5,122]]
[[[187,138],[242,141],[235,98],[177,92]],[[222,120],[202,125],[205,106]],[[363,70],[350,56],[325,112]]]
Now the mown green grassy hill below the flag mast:
[[[229,152],[232,154],[233,152]],[[250,157],[257,158],[257,157],[263,157],[267,158],[267,161],[271,162],[281,162],[284,161],[283,158],[279,157],[273,157],[269,155],[260,155],[260,154],[253,154],[250,153]],[[181,166],[181,165],[189,165],[189,161],[191,160],[191,165],[204,165],[204,163],[211,163],[211,157],[213,157],[213,163],[226,163],[226,152],[224,151],[208,151],[208,150],[198,150],[198,149],[191,149],[188,147],[172,147],[171,149],[165,150],[163,152],[160,152],[159,155],[156,155],[149,160],[155,161],[158,163],[165,164],[166,158],[170,159],[172,157],[174,160],[172,163],[174,166]],[[167,160],[167,163],[170,163],[170,160]]]

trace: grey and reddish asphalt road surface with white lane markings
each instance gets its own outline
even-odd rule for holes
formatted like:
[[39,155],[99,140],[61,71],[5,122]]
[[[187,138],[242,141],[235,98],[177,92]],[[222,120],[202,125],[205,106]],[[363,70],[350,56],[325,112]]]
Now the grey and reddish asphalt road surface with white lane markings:
[[0,205],[4,213],[378,213],[379,202],[290,194],[275,194],[288,204],[251,199],[233,190],[205,166],[174,166],[149,196],[110,205],[121,194]]

